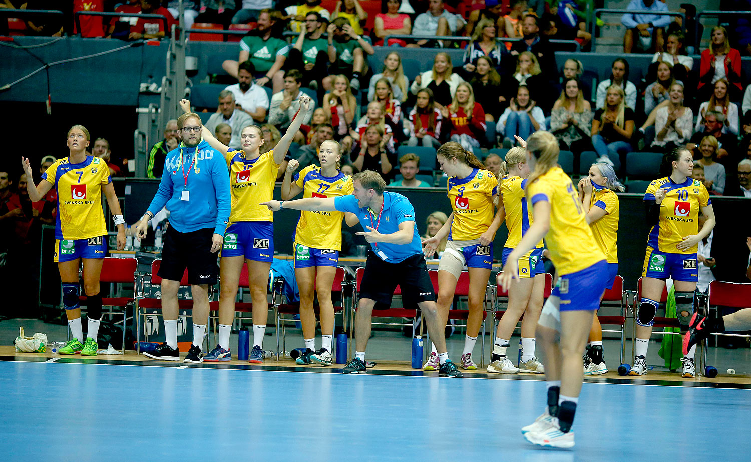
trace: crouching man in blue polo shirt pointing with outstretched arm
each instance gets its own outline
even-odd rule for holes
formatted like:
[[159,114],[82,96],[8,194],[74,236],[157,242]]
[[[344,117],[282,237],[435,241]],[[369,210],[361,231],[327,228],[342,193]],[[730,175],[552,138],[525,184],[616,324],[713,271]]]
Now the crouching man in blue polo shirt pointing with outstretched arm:
[[436,311],[436,295],[427,275],[425,257],[415,225],[415,208],[397,193],[384,192],[386,182],[377,172],[366,170],[352,178],[354,196],[333,199],[297,199],[289,202],[264,202],[271,211],[285,208],[307,211],[345,211],[357,215],[364,236],[372,249],[368,252],[360,287],[360,305],[354,323],[357,338],[355,357],[347,363],[345,374],[365,374],[365,349],[370,338],[372,310],[376,303],[391,305],[397,286],[405,305],[417,303],[425,317],[427,331],[439,352],[439,375],[462,377],[446,353],[444,328]]

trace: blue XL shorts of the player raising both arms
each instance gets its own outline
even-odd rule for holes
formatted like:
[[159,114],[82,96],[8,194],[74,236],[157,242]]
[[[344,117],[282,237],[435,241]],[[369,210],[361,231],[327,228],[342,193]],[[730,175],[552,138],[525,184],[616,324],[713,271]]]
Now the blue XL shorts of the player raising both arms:
[[274,258],[274,223],[231,223],[225,231],[225,242],[219,257],[245,257],[252,262],[271,263]]

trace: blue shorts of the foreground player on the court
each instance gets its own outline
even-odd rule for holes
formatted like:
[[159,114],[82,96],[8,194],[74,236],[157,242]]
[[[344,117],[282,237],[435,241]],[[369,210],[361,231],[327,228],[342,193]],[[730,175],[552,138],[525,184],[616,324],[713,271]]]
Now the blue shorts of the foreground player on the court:
[[560,276],[550,295],[559,297],[560,311],[597,311],[608,278],[608,263],[602,260],[580,272]]

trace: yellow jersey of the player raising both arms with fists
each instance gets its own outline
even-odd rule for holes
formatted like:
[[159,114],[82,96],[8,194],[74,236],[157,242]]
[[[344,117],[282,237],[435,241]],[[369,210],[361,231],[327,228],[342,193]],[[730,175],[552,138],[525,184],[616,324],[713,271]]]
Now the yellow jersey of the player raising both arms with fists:
[[279,171],[273,149],[255,160],[246,158],[243,150],[230,150],[227,164],[232,191],[230,223],[273,221],[273,212],[265,205],[258,205],[273,199],[276,172]]

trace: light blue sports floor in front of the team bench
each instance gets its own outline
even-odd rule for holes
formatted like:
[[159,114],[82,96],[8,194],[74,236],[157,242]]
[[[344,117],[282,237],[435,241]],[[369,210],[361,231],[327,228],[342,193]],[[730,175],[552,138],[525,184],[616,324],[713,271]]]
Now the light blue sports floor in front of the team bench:
[[585,383],[576,448],[520,428],[541,380],[0,361],[2,460],[749,460],[751,390]]

